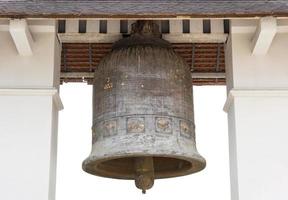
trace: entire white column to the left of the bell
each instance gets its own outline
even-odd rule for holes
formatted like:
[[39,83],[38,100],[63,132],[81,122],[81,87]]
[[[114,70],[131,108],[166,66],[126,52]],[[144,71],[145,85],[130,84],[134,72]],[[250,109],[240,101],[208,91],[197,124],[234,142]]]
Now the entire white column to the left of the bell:
[[0,30],[0,199],[54,200],[61,47],[54,20],[28,21],[32,55]]

